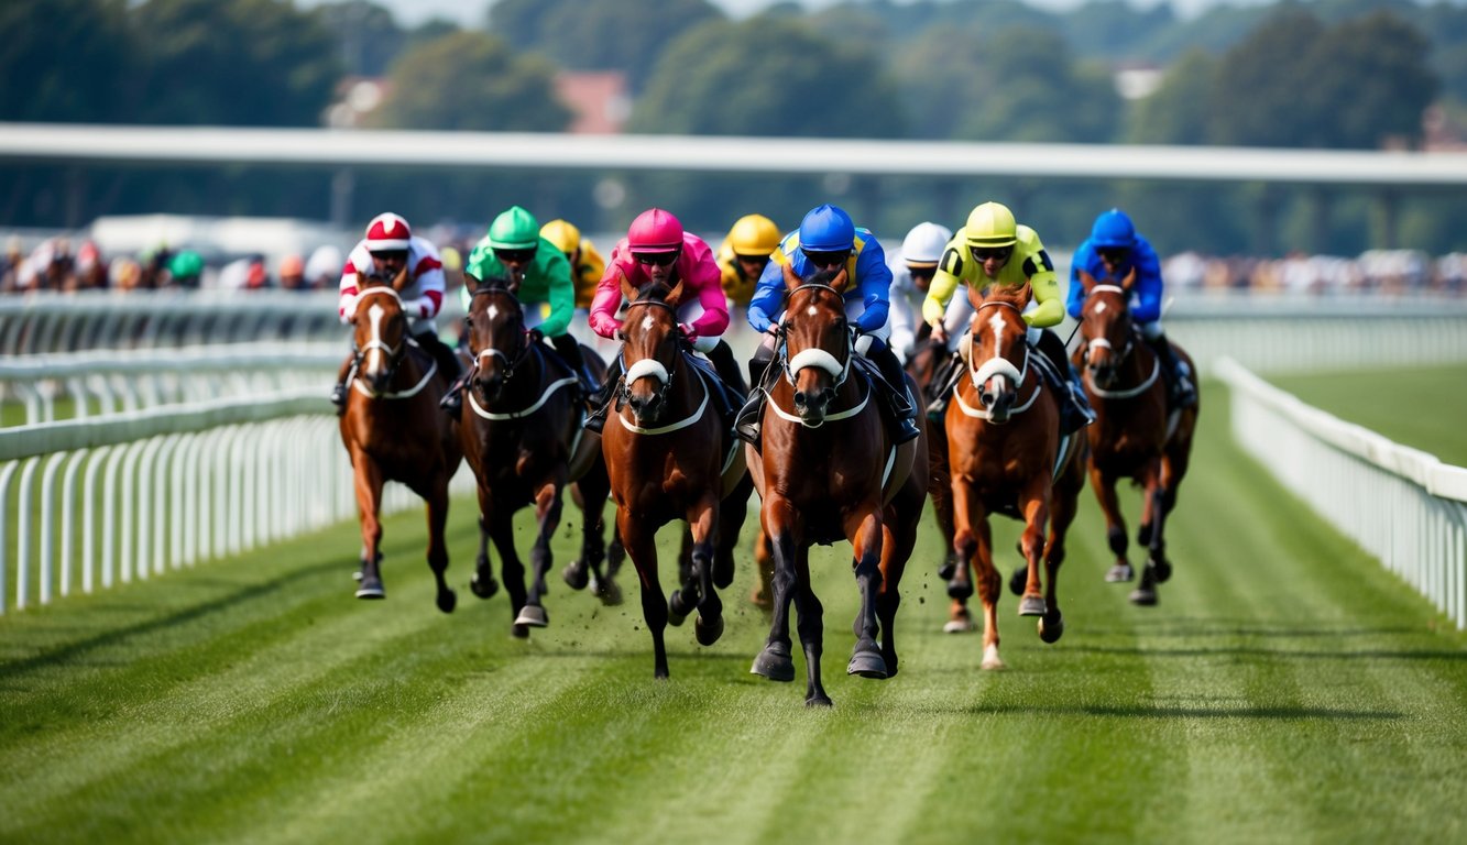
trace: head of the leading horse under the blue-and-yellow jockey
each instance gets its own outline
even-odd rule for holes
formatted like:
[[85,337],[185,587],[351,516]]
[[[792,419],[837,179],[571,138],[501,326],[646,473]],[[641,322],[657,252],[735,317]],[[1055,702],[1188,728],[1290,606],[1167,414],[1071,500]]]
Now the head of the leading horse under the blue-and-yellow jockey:
[[854,336],[845,318],[845,267],[808,282],[785,266],[785,377],[795,387],[795,412],[807,425],[824,422],[836,389],[851,373]]

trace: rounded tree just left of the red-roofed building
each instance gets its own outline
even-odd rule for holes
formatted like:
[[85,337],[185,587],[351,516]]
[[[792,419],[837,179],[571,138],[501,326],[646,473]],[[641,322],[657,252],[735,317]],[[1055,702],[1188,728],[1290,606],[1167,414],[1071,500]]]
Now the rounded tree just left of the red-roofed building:
[[377,126],[559,132],[571,110],[555,95],[555,67],[483,32],[453,32],[411,47],[387,75]]

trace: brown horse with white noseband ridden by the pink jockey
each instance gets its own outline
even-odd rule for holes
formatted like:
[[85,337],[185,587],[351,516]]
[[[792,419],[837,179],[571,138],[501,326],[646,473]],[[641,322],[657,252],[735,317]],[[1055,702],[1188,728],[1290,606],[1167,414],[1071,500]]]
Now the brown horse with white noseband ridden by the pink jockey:
[[[601,455],[616,502],[616,531],[641,575],[643,618],[651,632],[653,675],[667,678],[667,622],[694,610],[697,640],[723,634],[717,590],[734,582],[734,549],[753,484],[742,449],[713,408],[714,389],[698,374],[678,327],[678,305],[692,295],[682,282],[653,282],[638,290],[622,277],[625,376],[616,409],[601,431]],[[691,568],[665,597],[657,577],[657,530],[685,519],[692,534]]]

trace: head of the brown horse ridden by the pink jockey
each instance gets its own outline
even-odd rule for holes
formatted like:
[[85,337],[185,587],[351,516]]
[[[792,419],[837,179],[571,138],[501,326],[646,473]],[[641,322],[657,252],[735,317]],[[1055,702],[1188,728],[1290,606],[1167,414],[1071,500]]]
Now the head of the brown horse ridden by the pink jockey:
[[626,374],[619,399],[631,406],[638,425],[656,424],[667,409],[682,342],[678,305],[684,293],[682,282],[672,288],[651,282],[638,290],[622,276],[622,296],[629,305],[621,329]]

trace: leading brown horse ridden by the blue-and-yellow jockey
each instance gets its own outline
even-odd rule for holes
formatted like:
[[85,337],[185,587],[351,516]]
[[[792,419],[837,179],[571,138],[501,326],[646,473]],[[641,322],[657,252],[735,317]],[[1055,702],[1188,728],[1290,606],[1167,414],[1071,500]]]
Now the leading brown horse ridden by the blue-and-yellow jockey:
[[846,282],[845,268],[805,282],[785,267],[788,293],[779,329],[783,377],[764,405],[761,455],[748,447],[763,497],[760,519],[775,553],[769,640],[751,672],[770,681],[795,679],[789,640],[794,600],[805,653],[807,707],[830,706],[820,682],[824,622],[810,584],[810,546],[851,543],[861,607],[846,673],[889,678],[898,670],[898,588],[927,499],[926,420],[920,420],[915,440],[893,445],[873,396],[874,365],[858,358],[846,321]]

